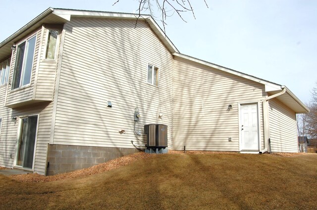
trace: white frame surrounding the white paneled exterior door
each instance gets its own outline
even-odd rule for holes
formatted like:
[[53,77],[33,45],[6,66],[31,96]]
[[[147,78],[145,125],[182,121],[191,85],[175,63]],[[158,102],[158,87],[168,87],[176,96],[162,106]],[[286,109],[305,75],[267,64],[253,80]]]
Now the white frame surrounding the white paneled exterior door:
[[[259,102],[259,101],[257,101],[257,102],[240,102],[240,103],[238,103],[238,121],[239,121],[239,123],[238,123],[238,131],[239,131],[239,151],[241,152],[242,151],[242,130],[241,130],[241,106],[242,105],[257,105],[257,111],[258,111],[258,150],[257,151],[260,151],[261,150],[261,148],[262,148],[262,141],[261,141],[261,130],[260,130],[260,123],[261,123],[261,121],[260,121],[260,119],[261,119],[261,117],[260,117],[260,105],[261,105],[261,103]],[[255,152],[257,152],[257,151],[255,151]],[[251,151],[250,151],[250,153],[252,153]],[[257,152],[258,153],[258,152]]]

